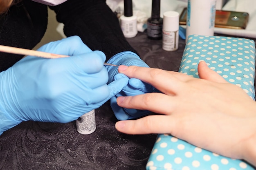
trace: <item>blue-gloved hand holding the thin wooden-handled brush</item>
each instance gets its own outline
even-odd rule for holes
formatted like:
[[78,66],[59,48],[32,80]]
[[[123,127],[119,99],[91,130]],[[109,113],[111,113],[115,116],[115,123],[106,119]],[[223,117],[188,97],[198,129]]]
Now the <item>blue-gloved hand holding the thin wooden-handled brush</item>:
[[128,84],[107,85],[106,56],[91,51],[78,36],[42,46],[39,51],[70,55],[27,56],[0,73],[0,134],[22,121],[66,123],[98,108]]

